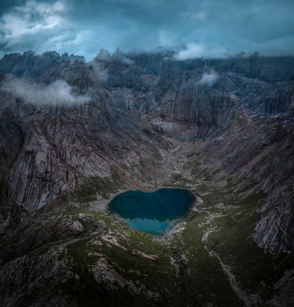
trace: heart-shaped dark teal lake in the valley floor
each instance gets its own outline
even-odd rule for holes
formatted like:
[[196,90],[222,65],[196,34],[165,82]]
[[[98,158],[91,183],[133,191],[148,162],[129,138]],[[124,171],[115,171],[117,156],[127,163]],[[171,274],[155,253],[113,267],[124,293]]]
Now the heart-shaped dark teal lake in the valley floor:
[[129,226],[152,235],[162,236],[188,212],[192,195],[184,189],[162,188],[154,192],[132,191],[113,198],[109,209]]

